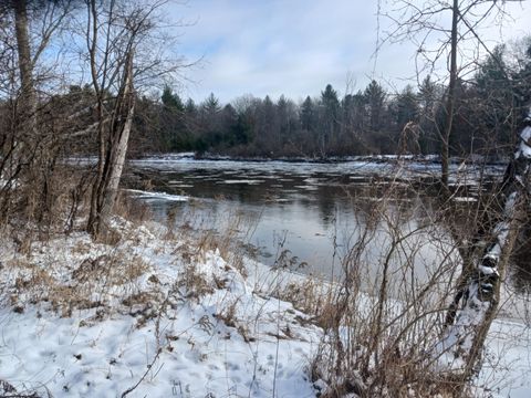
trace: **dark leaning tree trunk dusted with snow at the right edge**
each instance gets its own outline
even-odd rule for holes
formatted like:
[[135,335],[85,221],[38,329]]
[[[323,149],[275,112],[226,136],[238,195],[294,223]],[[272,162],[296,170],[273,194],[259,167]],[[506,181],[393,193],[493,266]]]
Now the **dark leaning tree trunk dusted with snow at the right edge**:
[[[478,260],[468,282],[458,293],[457,302],[461,310],[457,316],[450,316],[437,355],[447,358],[454,375],[467,379],[472,376],[481,357],[481,349],[489,327],[496,316],[500,296],[500,281],[510,259],[510,254],[521,223],[519,216],[528,202],[531,171],[531,111],[524,119],[514,151],[501,187],[503,211],[499,221],[490,231],[490,241]],[[454,310],[455,311],[455,307]]]

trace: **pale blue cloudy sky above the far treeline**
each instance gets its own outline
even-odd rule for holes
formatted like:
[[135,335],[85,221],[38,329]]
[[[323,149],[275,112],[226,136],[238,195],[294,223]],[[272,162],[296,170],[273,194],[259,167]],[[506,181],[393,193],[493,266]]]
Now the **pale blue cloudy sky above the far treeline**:
[[[381,1],[382,12],[393,9],[391,0]],[[531,1],[511,2],[507,11],[511,18],[502,28],[488,20],[478,31],[490,46],[531,34]],[[189,0],[170,2],[165,12],[183,24],[176,51],[198,61],[181,72],[177,88],[196,102],[210,93],[222,103],[248,94],[301,101],[329,83],[343,95],[372,78],[388,90],[416,84],[412,42],[384,43],[375,53],[393,27],[377,17],[376,0]],[[449,23],[449,14],[439,23]],[[437,38],[428,43],[436,45]]]

